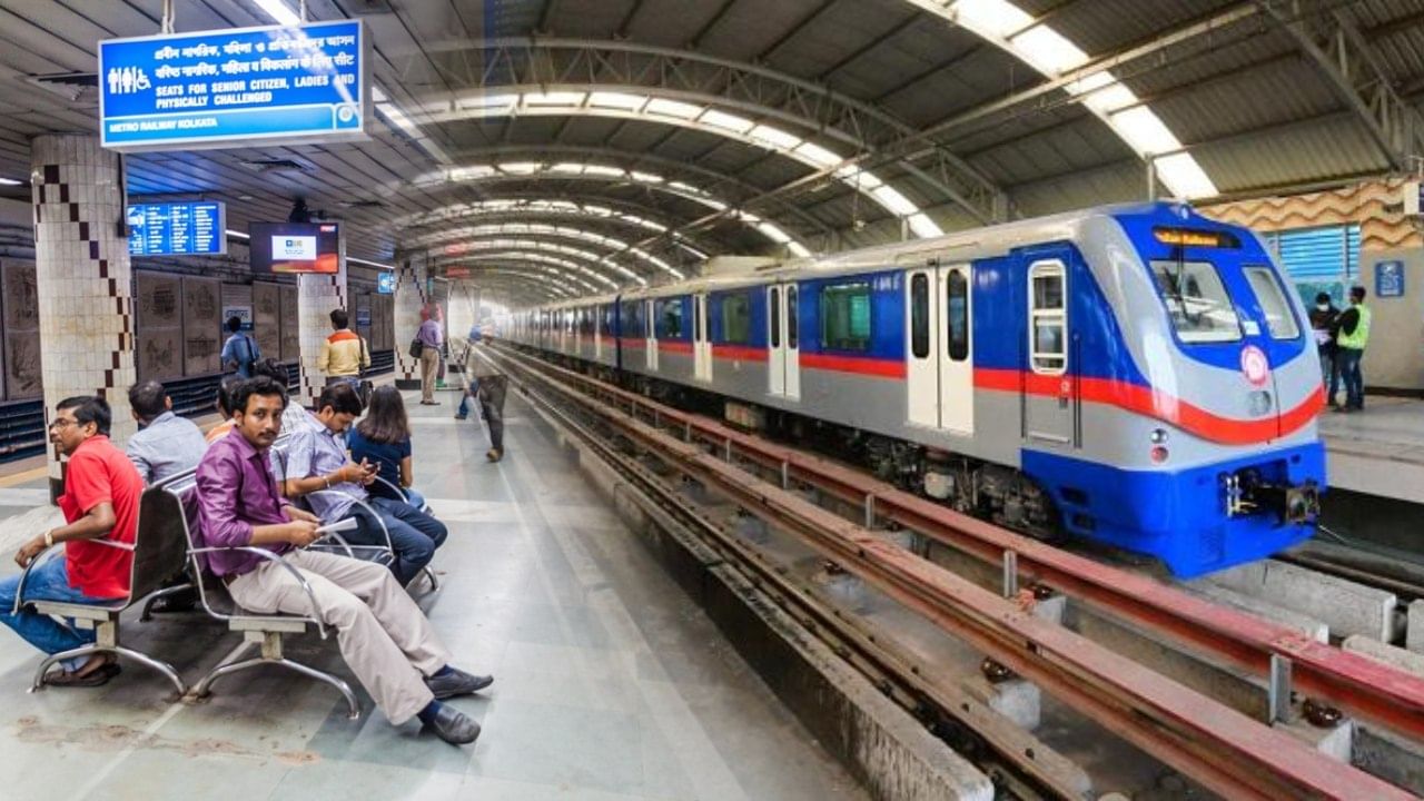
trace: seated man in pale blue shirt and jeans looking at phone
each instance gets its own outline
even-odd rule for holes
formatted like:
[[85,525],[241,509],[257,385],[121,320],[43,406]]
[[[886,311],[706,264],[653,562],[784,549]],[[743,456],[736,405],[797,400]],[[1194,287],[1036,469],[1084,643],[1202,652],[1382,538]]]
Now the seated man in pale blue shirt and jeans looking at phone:
[[380,527],[384,523],[396,552],[390,570],[402,584],[409,584],[446,540],[444,523],[406,503],[375,506],[380,520],[357,506],[356,500],[370,497],[366,485],[376,480],[375,465],[365,460],[355,465],[346,453],[345,432],[362,412],[360,398],[349,383],[332,383],[322,389],[316,409],[309,415],[313,425],[292,433],[286,450],[286,496],[310,495],[312,510],[326,523],[356,517],[360,527],[346,534],[353,544],[384,546]]

